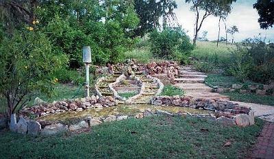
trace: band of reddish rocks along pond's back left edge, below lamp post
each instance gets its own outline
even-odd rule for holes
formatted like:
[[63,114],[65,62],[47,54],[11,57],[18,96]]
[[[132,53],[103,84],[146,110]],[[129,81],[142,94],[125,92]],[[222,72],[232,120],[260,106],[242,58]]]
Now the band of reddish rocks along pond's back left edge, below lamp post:
[[46,116],[48,114],[55,114],[68,111],[82,111],[91,108],[103,108],[116,106],[116,101],[113,97],[91,97],[70,99],[64,101],[53,101],[53,103],[41,103],[38,106],[31,108],[24,108],[19,114],[24,117],[34,115],[36,117]]

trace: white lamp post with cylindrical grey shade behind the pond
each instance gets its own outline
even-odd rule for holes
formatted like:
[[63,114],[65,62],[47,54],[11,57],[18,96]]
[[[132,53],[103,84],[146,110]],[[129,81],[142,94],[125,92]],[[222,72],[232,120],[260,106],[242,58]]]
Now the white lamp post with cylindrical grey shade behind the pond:
[[90,63],[91,63],[91,51],[90,47],[83,47],[83,62],[86,66],[86,97],[90,96]]

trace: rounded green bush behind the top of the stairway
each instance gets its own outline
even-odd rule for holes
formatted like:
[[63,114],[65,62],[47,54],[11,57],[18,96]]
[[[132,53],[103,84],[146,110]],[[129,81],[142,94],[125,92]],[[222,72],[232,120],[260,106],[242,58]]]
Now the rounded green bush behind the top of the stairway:
[[180,29],[166,28],[162,32],[154,31],[149,34],[151,53],[158,58],[173,60],[183,57],[180,54],[188,54],[193,49],[190,39]]

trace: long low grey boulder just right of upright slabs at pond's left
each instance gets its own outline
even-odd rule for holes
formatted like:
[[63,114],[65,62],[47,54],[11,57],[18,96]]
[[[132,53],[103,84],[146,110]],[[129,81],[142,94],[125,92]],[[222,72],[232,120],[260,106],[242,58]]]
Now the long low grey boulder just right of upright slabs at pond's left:
[[66,132],[66,130],[67,130],[67,127],[65,125],[62,125],[62,123],[57,123],[57,124],[45,126],[44,129],[42,129],[41,134],[53,135],[53,134]]

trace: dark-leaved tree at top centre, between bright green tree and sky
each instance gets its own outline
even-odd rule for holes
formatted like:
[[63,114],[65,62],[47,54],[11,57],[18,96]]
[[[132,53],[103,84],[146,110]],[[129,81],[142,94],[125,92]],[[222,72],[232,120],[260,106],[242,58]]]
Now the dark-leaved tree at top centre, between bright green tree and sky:
[[135,0],[134,8],[140,19],[134,36],[144,36],[147,32],[160,27],[160,17],[177,8],[177,4],[174,0]]

